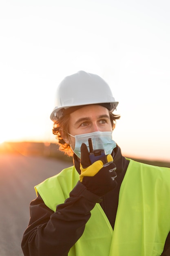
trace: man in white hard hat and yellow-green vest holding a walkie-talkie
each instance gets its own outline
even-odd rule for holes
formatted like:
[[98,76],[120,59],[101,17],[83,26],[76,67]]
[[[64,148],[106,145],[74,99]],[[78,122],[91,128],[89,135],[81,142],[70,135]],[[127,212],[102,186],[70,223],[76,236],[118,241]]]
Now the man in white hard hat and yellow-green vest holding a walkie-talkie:
[[117,105],[95,74],[60,83],[53,133],[74,165],[35,186],[25,256],[170,255],[170,169],[121,155]]

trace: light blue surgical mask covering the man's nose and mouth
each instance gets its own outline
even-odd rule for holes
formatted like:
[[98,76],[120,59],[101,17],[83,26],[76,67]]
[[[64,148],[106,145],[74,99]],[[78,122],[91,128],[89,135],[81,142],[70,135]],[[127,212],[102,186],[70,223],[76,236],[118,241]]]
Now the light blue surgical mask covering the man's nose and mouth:
[[[68,133],[69,134],[69,133]],[[71,134],[69,134],[71,135]],[[71,135],[75,138],[75,149],[73,150],[77,157],[81,158],[81,146],[82,143],[85,143],[88,151],[88,139],[92,139],[93,149],[104,149],[106,155],[111,154],[113,148],[116,147],[116,142],[112,139],[112,132],[91,132],[91,133],[84,133],[79,135]]]

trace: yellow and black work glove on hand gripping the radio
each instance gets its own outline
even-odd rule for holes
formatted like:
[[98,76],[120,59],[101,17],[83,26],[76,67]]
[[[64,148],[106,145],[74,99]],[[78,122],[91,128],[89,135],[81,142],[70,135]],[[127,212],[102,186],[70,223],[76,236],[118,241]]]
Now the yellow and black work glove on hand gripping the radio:
[[105,155],[91,164],[88,148],[84,143],[81,146],[80,170],[80,182],[95,195],[105,195],[117,186],[115,181],[117,176],[115,172],[116,166],[113,163],[113,157]]

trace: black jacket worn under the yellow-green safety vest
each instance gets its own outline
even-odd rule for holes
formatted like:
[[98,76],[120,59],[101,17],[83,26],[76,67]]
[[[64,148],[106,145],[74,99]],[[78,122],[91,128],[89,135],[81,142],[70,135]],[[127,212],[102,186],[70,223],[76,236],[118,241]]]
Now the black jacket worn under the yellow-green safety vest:
[[[25,256],[67,256],[70,248],[82,236],[86,222],[91,217],[90,211],[100,203],[111,226],[114,228],[118,206],[119,189],[126,173],[129,161],[121,155],[119,146],[114,149],[114,163],[117,167],[117,187],[102,198],[88,191],[88,197],[80,196],[86,190],[78,182],[70,197],[56,208],[56,212],[46,207],[40,195],[30,204],[29,226],[24,232],[22,250]],[[74,165],[78,173],[79,159],[74,155]],[[163,256],[170,249],[168,235]]]

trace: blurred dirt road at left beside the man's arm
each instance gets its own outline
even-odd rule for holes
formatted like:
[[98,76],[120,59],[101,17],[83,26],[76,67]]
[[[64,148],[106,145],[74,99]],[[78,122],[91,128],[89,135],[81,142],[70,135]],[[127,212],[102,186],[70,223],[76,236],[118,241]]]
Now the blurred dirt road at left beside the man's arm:
[[21,240],[29,222],[34,186],[71,163],[23,155],[0,155],[0,256],[23,256]]

